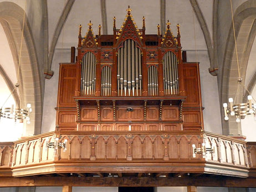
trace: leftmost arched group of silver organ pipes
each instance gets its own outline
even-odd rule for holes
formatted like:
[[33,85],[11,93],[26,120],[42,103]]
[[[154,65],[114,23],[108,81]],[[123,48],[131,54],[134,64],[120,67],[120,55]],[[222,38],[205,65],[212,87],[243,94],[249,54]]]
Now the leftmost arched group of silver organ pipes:
[[94,95],[96,82],[96,58],[91,52],[83,56],[81,63],[81,95]]

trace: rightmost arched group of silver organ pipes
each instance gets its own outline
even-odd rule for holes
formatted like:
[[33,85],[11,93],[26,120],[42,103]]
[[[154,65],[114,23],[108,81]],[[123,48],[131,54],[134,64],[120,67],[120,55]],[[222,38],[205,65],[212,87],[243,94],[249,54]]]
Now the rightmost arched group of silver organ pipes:
[[178,63],[171,51],[163,56],[163,87],[165,95],[178,95]]

